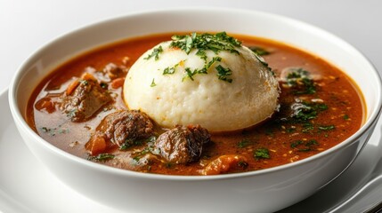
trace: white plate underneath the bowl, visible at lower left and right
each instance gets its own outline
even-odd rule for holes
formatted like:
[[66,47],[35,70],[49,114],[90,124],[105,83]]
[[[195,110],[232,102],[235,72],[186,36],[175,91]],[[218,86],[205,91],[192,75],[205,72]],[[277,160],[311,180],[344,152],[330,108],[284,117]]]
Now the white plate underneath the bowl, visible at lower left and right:
[[[24,145],[12,121],[7,91],[0,93],[0,211],[108,212],[112,209],[63,185]],[[382,142],[376,131],[354,164],[319,193],[280,212],[363,212],[382,199]],[[165,210],[165,209],[162,209]],[[238,212],[240,209],[238,209]]]

